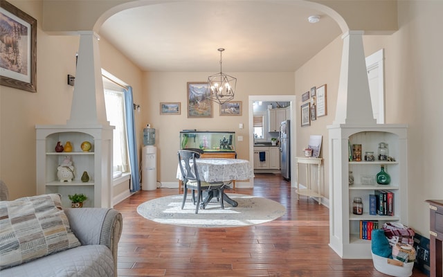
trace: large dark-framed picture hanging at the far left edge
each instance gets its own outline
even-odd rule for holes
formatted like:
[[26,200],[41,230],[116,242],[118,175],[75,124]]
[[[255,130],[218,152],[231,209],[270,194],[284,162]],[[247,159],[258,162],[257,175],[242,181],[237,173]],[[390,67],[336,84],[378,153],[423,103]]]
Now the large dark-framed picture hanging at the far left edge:
[[37,20],[1,0],[0,26],[0,84],[37,92]]

